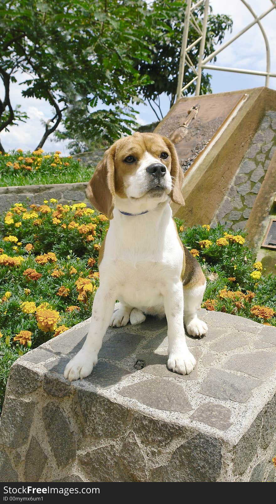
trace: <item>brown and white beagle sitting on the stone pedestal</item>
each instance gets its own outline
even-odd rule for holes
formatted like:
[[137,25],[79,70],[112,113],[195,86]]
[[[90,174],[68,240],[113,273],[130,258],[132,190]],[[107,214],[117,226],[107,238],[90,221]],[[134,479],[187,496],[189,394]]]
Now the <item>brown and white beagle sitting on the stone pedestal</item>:
[[[173,144],[153,133],[118,140],[97,165],[87,196],[110,227],[100,249],[100,287],[89,331],[64,370],[70,382],[91,373],[109,325],[140,324],[146,314],[166,316],[168,368],[180,374],[194,369],[183,320],[191,336],[208,331],[197,316],[206,279],[172,219],[170,200],[185,204],[182,183]],[[114,311],[117,299],[121,305]]]

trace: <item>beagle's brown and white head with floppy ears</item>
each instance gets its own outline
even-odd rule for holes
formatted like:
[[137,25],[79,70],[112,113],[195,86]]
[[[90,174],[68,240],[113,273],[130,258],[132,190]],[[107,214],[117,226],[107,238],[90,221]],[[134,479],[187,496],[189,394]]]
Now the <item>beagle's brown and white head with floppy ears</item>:
[[169,198],[185,205],[182,183],[183,172],[170,140],[154,133],[134,133],[105,152],[86,194],[97,210],[112,219],[115,206],[135,214]]

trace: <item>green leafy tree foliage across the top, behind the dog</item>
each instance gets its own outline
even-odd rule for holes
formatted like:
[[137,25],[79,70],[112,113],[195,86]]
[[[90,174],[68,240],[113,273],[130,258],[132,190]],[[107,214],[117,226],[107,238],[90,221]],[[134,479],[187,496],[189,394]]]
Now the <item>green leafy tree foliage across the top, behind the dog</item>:
[[[26,77],[23,96],[53,108],[36,149],[62,121],[59,138],[74,139],[78,150],[129,134],[135,104],[158,100],[163,91],[174,99],[185,7],[174,0],[0,0],[0,134],[26,119],[10,97],[19,72]],[[201,24],[200,9],[195,16]],[[227,16],[211,16],[209,49],[229,27]],[[210,91],[209,76],[202,91]]]

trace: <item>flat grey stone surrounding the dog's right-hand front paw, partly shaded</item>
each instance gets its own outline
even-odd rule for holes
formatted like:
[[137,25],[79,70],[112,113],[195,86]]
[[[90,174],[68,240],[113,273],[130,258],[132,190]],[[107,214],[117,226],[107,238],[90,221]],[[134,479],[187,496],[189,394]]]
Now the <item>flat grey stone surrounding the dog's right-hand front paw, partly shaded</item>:
[[198,361],[202,355],[202,352],[196,347],[192,348],[191,353],[194,355],[197,364],[195,369],[190,374],[178,374],[173,373],[167,368],[167,355],[160,355],[156,353],[151,354],[138,354],[137,359],[145,360],[145,367],[143,367],[142,372],[147,374],[153,374],[154,376],[175,378],[178,377],[180,380],[196,380],[198,377]]

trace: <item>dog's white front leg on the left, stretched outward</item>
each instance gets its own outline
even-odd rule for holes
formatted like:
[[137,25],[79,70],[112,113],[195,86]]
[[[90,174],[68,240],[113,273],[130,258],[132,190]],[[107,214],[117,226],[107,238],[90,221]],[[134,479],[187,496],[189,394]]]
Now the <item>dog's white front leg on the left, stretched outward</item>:
[[97,364],[98,353],[110,323],[115,301],[116,293],[110,287],[101,284],[95,294],[86,340],[81,350],[68,362],[64,370],[64,377],[70,382],[79,378],[82,380]]

